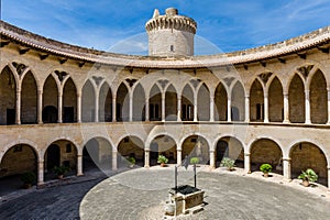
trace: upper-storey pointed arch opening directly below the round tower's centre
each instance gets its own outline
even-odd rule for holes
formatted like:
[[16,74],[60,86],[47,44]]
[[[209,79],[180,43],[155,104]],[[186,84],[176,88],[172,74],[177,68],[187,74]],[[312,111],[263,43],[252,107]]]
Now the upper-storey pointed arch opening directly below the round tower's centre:
[[173,85],[168,86],[165,92],[165,120],[177,120],[177,94]]

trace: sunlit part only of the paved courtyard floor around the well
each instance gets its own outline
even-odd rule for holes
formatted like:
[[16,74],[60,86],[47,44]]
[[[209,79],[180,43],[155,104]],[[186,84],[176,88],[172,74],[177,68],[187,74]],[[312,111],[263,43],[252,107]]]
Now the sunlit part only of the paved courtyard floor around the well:
[[[194,185],[191,169],[180,168],[178,179],[179,184]],[[81,219],[162,219],[170,187],[174,187],[174,167],[125,172],[89,190],[80,202],[79,216]],[[272,182],[200,170],[197,187],[206,191],[204,211],[178,219],[330,218],[328,195],[322,198]]]

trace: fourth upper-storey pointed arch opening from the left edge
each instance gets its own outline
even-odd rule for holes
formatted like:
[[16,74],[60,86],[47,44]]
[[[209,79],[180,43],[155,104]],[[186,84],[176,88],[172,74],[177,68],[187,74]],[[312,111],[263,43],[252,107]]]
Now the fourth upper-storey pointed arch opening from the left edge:
[[68,78],[63,88],[63,122],[77,121],[77,88],[72,78]]

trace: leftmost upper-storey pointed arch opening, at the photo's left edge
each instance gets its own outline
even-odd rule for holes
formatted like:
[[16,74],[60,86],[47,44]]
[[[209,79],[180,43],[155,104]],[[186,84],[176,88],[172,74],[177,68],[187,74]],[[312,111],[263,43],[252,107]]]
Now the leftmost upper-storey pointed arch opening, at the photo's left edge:
[[0,74],[0,124],[14,124],[16,119],[16,82],[10,68]]

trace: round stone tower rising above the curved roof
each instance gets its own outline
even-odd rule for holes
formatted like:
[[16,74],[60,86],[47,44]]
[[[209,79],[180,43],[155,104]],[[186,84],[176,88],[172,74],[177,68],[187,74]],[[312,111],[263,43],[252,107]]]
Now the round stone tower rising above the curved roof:
[[177,9],[168,8],[161,15],[155,9],[154,15],[145,24],[148,35],[150,56],[193,56],[194,36],[197,23]]

